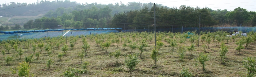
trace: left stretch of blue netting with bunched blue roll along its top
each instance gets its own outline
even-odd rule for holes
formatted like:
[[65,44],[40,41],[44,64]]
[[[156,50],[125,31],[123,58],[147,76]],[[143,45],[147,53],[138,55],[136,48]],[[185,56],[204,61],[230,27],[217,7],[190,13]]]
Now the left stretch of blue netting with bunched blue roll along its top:
[[[67,31],[67,33],[66,33]],[[76,36],[120,32],[122,28],[88,28],[88,29],[57,29],[57,30],[28,30],[28,31],[0,31],[1,40],[4,39],[38,39],[42,37]],[[65,34],[66,33],[66,34]]]

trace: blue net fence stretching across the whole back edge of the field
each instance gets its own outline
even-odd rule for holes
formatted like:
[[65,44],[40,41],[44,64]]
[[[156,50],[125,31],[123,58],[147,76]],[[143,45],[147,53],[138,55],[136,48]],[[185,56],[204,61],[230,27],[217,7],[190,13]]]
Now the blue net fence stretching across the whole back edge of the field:
[[[183,27],[183,26],[158,26],[156,27],[156,32],[186,32],[199,30],[198,27]],[[244,33],[250,31],[256,31],[256,27],[201,27],[200,31],[210,31],[215,32],[218,30],[223,30],[227,32],[242,31]],[[42,37],[57,37],[63,36],[67,31],[67,36],[76,35],[89,35],[89,34],[101,34],[109,32],[154,32],[154,26],[145,27],[122,27],[122,28],[87,28],[87,29],[55,29],[55,30],[29,30],[29,31],[0,31],[0,39],[37,39]],[[22,35],[19,35],[22,34]]]

